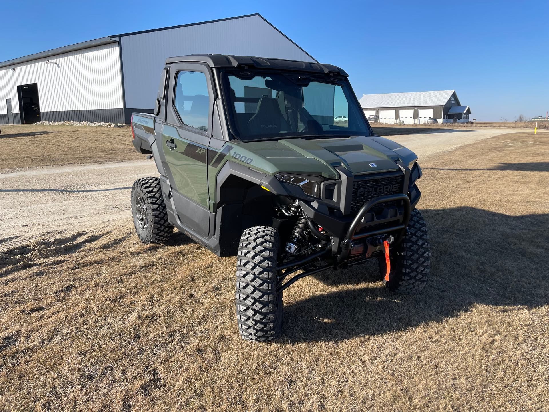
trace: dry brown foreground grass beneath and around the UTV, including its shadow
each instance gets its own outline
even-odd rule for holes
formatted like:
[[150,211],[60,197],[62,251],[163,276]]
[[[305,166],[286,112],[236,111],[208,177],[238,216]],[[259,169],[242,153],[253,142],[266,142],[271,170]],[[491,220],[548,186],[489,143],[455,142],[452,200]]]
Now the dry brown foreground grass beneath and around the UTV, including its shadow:
[[121,222],[5,250],[0,409],[546,410],[548,154],[516,133],[424,159],[424,293],[373,265],[305,278],[271,344],[238,336],[235,259],[183,235],[143,246]]

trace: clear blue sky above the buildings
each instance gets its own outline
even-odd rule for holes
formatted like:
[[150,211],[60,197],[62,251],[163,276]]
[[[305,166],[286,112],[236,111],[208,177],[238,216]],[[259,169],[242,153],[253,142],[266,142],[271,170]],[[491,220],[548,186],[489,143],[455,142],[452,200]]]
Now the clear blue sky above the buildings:
[[34,1],[2,5],[0,61],[130,31],[261,13],[364,93],[455,89],[477,120],[549,110],[549,2]]

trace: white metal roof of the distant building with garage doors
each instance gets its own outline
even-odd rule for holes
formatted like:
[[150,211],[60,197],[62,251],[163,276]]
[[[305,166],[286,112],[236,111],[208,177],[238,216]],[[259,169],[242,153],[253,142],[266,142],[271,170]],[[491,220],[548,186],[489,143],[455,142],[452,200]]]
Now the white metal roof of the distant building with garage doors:
[[455,90],[436,90],[432,92],[365,94],[358,101],[363,108],[444,106],[455,92]]

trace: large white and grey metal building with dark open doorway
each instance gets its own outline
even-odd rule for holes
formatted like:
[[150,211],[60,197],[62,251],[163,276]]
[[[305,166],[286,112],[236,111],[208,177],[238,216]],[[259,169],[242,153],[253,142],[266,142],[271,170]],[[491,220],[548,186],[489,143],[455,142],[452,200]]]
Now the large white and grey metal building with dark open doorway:
[[316,60],[260,14],[98,38],[0,63],[0,124],[128,123],[152,112],[167,57],[198,53]]

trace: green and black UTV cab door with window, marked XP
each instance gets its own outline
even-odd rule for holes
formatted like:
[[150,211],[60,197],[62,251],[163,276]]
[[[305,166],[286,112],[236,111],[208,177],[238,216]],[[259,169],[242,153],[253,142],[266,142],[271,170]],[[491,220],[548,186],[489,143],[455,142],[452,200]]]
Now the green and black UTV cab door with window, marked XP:
[[206,237],[210,224],[208,147],[215,99],[211,71],[202,64],[176,63],[169,73],[162,147],[172,201],[182,225]]

